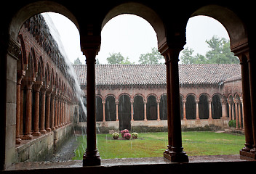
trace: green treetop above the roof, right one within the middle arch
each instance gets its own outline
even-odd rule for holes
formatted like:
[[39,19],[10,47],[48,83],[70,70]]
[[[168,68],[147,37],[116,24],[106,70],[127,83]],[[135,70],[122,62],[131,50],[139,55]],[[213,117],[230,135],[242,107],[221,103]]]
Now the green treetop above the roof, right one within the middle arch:
[[140,64],[159,64],[164,57],[159,53],[156,48],[152,48],[151,52],[146,54],[140,54]]

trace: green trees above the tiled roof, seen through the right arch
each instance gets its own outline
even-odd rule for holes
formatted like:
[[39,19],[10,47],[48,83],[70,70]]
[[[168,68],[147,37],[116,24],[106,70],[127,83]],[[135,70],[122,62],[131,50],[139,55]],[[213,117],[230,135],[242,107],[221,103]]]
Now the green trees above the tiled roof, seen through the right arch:
[[233,64],[239,63],[239,59],[234,56],[230,49],[230,42],[225,38],[213,36],[205,41],[209,46],[209,51],[204,55],[193,56],[193,49],[185,48],[181,52],[180,59],[184,64]]

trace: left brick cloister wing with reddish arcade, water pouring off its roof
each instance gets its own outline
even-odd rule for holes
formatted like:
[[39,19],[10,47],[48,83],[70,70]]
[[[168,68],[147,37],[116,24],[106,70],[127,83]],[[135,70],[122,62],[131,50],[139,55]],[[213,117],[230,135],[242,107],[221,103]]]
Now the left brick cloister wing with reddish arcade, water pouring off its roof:
[[16,161],[38,161],[72,133],[74,78],[40,14],[24,23],[18,37]]

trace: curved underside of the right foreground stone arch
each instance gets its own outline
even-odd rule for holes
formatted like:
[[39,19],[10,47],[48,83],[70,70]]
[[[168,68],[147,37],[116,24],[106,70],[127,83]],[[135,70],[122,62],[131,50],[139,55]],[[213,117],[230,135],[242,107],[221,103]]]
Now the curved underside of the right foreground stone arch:
[[231,40],[231,51],[238,46],[247,44],[247,29],[244,22],[231,9],[218,5],[207,5],[197,9],[191,14],[191,17],[197,15],[212,17],[225,27]]

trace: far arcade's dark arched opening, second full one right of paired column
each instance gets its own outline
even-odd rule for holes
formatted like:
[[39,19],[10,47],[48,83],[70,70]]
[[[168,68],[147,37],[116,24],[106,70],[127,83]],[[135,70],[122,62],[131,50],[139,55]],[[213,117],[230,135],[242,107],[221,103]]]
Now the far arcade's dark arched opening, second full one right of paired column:
[[199,118],[208,119],[209,118],[209,104],[208,97],[205,94],[201,94],[199,97]]

